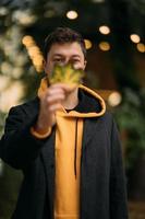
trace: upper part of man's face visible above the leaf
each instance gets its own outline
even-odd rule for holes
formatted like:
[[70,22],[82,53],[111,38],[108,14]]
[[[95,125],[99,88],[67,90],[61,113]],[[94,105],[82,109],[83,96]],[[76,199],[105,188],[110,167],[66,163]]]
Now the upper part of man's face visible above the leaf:
[[67,64],[72,64],[75,69],[85,69],[86,60],[78,43],[53,44],[44,61],[44,69],[49,76],[55,65]]

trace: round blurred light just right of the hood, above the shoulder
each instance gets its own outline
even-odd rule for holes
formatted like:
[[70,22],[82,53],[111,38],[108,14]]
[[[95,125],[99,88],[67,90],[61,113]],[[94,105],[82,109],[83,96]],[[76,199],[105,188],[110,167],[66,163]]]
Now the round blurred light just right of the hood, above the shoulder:
[[122,100],[121,94],[116,91],[116,92],[112,92],[109,95],[109,97],[108,97],[108,104],[110,106],[117,106],[117,105],[119,105],[121,103],[121,100]]

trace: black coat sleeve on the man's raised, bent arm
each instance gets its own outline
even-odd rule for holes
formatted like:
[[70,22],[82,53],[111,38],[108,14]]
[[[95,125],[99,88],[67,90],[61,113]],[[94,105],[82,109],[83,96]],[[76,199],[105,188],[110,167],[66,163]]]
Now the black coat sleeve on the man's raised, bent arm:
[[37,139],[31,134],[35,120],[36,117],[26,116],[21,106],[10,110],[0,140],[0,158],[15,169],[25,169],[32,163],[45,143],[46,139]]

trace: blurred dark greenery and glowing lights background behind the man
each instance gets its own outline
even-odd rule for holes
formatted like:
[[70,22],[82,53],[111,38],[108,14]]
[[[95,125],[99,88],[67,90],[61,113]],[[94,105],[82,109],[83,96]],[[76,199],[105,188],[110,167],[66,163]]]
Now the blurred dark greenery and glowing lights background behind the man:
[[[44,39],[57,26],[84,36],[85,84],[120,130],[130,219],[145,219],[145,0],[1,0],[0,136],[10,107],[37,94]],[[10,218],[22,178],[0,160],[0,219]]]

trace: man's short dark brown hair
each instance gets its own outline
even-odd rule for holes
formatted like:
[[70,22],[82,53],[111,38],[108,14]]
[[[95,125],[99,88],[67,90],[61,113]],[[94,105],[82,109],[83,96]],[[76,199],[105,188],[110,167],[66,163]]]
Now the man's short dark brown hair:
[[46,37],[44,46],[44,58],[47,59],[47,55],[53,44],[65,44],[74,42],[80,44],[86,59],[86,48],[82,35],[69,27],[57,27]]

